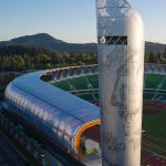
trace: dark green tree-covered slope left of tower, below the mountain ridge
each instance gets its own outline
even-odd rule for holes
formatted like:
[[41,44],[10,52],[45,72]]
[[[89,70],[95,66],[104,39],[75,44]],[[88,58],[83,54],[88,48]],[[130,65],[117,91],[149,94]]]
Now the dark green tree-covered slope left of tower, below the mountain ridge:
[[97,63],[95,53],[60,53],[23,45],[0,48],[1,71],[43,70],[94,63]]

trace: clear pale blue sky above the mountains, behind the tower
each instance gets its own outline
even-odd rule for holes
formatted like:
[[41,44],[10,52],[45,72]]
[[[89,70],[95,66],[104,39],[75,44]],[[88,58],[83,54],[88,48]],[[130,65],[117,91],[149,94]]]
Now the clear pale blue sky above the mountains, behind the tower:
[[[146,40],[166,43],[166,0],[128,0]],[[0,0],[0,41],[49,33],[70,43],[96,42],[95,0]]]

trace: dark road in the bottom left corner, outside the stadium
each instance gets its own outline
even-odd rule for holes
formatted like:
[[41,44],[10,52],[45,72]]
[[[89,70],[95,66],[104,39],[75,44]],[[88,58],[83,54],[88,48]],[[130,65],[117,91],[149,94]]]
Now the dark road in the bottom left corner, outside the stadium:
[[0,133],[0,166],[27,166],[19,153]]

